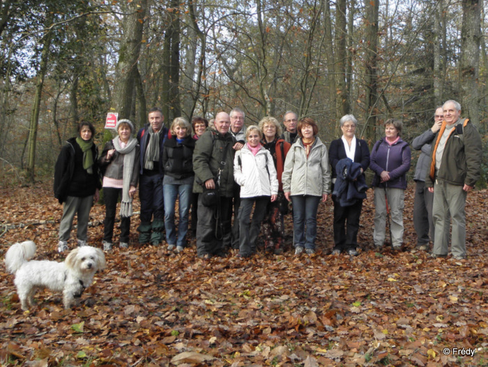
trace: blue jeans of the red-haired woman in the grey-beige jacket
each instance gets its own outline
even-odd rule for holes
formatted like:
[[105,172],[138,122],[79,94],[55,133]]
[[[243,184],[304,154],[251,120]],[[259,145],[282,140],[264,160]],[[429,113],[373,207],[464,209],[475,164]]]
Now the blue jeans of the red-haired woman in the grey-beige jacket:
[[[291,195],[293,204],[293,242],[295,247],[315,249],[317,209],[321,196]],[[305,227],[307,227],[305,232]]]

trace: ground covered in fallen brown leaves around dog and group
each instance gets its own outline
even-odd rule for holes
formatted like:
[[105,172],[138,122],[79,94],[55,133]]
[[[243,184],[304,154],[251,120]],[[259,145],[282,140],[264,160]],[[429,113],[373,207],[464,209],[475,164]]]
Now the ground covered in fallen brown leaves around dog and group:
[[[195,239],[182,254],[137,245],[135,216],[132,246],[107,253],[107,269],[72,310],[63,310],[61,293],[41,290],[36,306],[23,313],[13,276],[0,267],[0,362],[486,366],[486,195],[487,190],[468,194],[468,260],[461,262],[411,251],[416,243],[413,188],[406,193],[404,251],[373,250],[369,192],[359,234],[363,250],[352,259],[328,255],[333,246],[330,200],[321,205],[318,251],[312,257],[297,258],[287,248],[284,255],[259,253],[250,260],[199,260]],[[51,190],[1,188],[0,197],[0,225],[24,224],[0,238],[1,257],[10,244],[33,239],[36,259],[63,260],[65,255],[56,253],[61,205]],[[91,212],[95,226],[89,228],[95,246],[101,244],[103,216],[104,207],[96,205]],[[462,354],[468,350],[474,356]]]

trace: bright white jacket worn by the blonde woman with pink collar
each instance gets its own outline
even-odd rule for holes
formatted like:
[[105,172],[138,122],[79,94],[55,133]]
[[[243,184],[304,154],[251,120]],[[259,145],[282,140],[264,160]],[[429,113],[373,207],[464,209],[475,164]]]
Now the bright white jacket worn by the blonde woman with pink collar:
[[254,156],[245,144],[234,157],[234,181],[241,186],[241,197],[277,195],[278,179],[270,152],[261,147]]

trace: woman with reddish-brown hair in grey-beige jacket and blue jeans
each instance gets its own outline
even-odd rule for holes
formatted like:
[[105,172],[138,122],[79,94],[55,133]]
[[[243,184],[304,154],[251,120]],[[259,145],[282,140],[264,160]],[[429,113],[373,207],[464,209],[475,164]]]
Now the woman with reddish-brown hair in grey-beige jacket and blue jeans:
[[[298,122],[300,139],[291,146],[284,161],[284,196],[293,204],[293,243],[295,255],[315,253],[317,209],[330,194],[327,147],[319,137],[317,123],[305,117]],[[305,232],[305,227],[307,227]]]

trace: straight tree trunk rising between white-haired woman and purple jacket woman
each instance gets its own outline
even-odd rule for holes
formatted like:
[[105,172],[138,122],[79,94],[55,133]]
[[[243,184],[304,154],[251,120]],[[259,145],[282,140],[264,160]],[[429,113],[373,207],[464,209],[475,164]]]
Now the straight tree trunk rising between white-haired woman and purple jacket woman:
[[378,18],[379,0],[366,1],[366,52],[365,52],[365,87],[366,87],[366,138],[368,144],[376,140],[376,104],[378,100],[378,75],[376,73],[378,54]]

